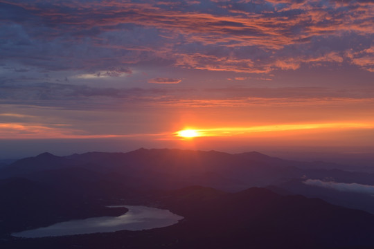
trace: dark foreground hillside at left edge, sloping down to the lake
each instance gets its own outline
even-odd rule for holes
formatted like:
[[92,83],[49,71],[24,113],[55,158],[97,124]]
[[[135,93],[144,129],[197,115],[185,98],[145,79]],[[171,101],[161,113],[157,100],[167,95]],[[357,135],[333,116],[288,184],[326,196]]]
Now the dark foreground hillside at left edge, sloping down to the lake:
[[107,208],[87,195],[78,196],[24,178],[0,181],[0,196],[0,237],[72,219],[127,212],[127,208]]

